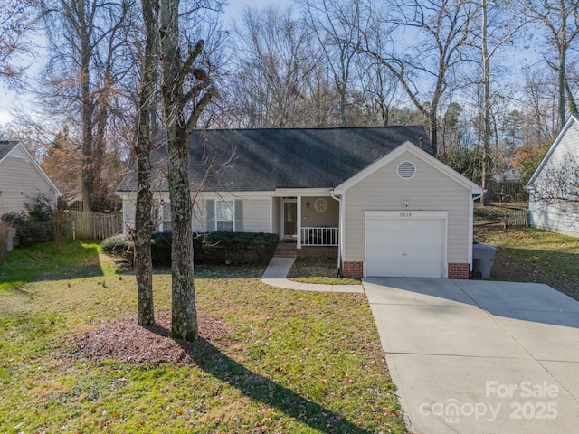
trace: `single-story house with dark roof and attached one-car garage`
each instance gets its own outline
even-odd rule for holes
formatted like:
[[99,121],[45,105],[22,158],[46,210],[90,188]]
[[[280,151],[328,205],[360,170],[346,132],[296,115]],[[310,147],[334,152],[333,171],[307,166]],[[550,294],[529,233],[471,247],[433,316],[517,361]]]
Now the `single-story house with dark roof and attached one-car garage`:
[[[344,276],[469,278],[481,188],[432,156],[423,127],[199,130],[190,142],[195,231],[264,231]],[[166,146],[153,154],[166,166]],[[165,162],[165,164],[164,164]],[[170,228],[168,188],[155,186]],[[136,173],[119,184],[126,229]]]

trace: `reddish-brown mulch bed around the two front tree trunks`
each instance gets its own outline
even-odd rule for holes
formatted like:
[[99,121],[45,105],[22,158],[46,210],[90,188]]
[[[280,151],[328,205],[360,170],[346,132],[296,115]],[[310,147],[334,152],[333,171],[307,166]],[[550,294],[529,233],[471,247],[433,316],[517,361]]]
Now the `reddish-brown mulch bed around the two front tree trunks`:
[[[117,360],[156,366],[160,363],[195,363],[197,357],[215,350],[212,342],[225,343],[228,333],[223,321],[211,316],[198,316],[199,338],[189,343],[171,337],[170,312],[158,312],[156,325],[141,327],[137,318],[102,322],[97,327],[72,335],[69,341],[75,358],[93,362]],[[213,350],[213,351],[212,351]]]

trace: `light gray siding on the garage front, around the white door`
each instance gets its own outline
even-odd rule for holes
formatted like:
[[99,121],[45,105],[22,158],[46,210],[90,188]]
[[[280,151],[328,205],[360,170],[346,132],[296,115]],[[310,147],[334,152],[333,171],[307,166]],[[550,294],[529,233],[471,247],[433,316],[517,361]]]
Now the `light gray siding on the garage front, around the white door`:
[[[398,165],[411,161],[416,173],[402,179]],[[448,211],[448,263],[466,263],[469,258],[470,191],[422,159],[404,153],[345,193],[346,261],[365,259],[365,211]],[[410,201],[405,208],[403,201]]]

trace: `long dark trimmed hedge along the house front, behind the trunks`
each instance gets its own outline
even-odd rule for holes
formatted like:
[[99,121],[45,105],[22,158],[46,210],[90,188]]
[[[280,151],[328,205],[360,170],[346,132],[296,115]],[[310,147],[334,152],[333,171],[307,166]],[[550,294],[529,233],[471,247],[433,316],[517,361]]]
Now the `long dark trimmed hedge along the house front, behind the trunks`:
[[[151,238],[153,265],[171,265],[170,232],[154,233]],[[196,234],[193,239],[196,264],[267,265],[278,245],[278,236],[264,232],[210,232]],[[132,259],[134,243],[127,235],[109,237],[100,244],[101,250]]]

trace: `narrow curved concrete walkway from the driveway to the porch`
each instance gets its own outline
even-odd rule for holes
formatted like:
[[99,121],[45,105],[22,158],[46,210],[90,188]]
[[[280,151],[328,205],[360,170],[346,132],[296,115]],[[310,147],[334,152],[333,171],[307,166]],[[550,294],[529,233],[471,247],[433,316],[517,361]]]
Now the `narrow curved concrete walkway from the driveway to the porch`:
[[261,281],[266,285],[276,288],[295,289],[299,291],[320,292],[364,292],[362,285],[319,285],[313,283],[294,282],[287,278],[289,269],[295,258],[273,258],[268,268],[261,276]]

